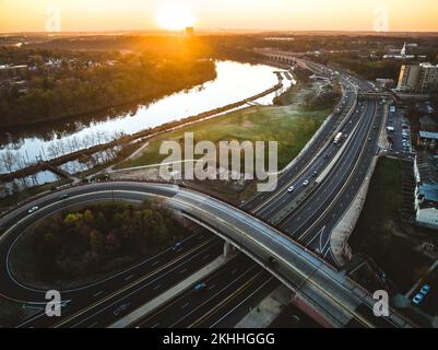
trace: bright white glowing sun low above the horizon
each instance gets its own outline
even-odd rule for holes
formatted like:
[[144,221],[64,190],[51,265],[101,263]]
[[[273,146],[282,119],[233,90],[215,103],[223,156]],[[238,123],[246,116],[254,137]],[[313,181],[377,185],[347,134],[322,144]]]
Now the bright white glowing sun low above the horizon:
[[170,1],[158,8],[156,23],[167,31],[182,31],[193,26],[194,15],[192,10],[181,1]]

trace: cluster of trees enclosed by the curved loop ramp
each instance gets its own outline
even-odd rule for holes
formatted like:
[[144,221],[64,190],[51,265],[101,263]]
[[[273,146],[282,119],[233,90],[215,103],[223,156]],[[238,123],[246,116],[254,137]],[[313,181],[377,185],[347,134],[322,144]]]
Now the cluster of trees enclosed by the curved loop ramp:
[[56,213],[27,232],[14,248],[12,265],[33,270],[33,280],[83,279],[145,259],[188,232],[155,201],[90,205]]

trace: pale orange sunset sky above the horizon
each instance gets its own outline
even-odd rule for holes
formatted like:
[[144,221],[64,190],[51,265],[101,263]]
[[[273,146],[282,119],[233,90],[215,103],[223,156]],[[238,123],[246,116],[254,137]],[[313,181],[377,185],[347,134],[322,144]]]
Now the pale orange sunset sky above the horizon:
[[0,32],[45,32],[54,9],[62,32],[438,31],[437,0],[0,0]]

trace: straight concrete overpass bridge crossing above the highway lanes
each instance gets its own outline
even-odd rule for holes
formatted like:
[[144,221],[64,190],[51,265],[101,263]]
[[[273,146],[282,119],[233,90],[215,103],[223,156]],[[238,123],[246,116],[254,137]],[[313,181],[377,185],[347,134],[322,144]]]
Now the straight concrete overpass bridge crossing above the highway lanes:
[[[217,199],[174,188],[169,207],[224,238],[293,292],[293,303],[325,327],[414,327],[393,308],[377,317],[376,301],[320,257],[254,217]],[[225,249],[226,250],[226,249]]]

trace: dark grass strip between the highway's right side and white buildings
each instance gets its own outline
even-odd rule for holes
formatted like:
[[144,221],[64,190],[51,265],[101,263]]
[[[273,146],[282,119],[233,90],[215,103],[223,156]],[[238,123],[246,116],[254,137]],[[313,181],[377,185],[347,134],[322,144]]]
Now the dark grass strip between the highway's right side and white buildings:
[[355,253],[370,256],[395,284],[406,291],[428,267],[428,259],[404,232],[401,161],[380,159],[359,221],[348,242]]

